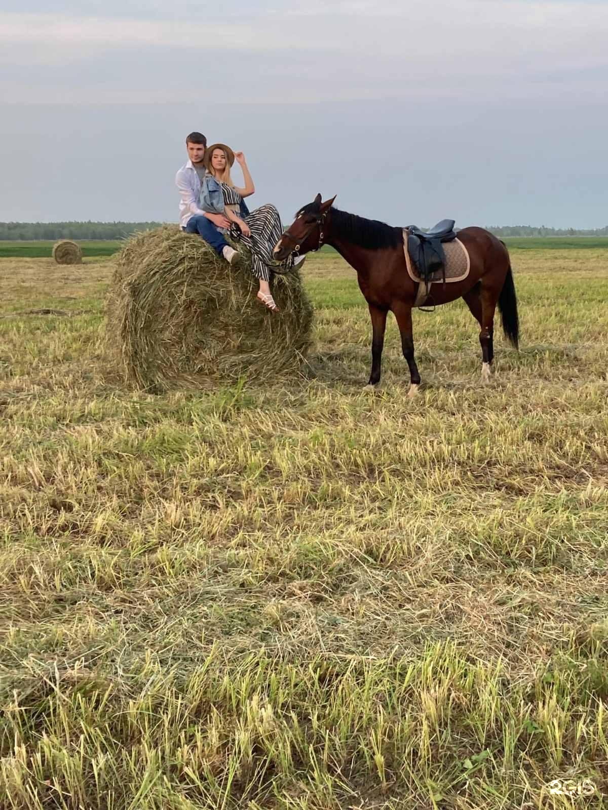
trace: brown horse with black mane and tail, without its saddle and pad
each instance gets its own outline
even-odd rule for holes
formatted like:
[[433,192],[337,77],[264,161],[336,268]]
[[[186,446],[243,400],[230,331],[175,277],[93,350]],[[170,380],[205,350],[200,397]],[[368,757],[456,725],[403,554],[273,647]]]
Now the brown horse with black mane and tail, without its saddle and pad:
[[[368,385],[380,382],[380,364],[384,343],[387,312],[396,318],[401,335],[401,347],[409,365],[409,395],[420,385],[416,360],[413,356],[412,308],[419,284],[409,276],[405,263],[403,230],[377,220],[338,211],[332,207],[336,198],[321,202],[317,194],[314,203],[298,211],[293,224],[285,231],[274,248],[274,258],[283,260],[289,254],[302,255],[332,245],[358,275],[359,288],[370,308],[373,337],[371,341],[371,372]],[[504,335],[518,346],[519,320],[511,262],[507,248],[484,228],[463,228],[458,239],[469,251],[469,275],[463,281],[433,285],[433,304],[448,304],[464,298],[480,326],[482,345],[482,381],[490,378],[494,359],[494,313],[499,305]],[[425,302],[422,301],[422,305]]]

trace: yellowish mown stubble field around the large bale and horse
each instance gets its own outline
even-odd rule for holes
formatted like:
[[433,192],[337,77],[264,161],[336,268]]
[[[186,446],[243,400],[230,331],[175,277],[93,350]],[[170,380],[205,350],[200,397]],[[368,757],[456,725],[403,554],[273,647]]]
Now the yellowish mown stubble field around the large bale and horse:
[[512,264],[410,401],[335,255],[308,373],[199,396],[106,364],[109,260],[0,259],[2,810],[606,807],[608,251]]

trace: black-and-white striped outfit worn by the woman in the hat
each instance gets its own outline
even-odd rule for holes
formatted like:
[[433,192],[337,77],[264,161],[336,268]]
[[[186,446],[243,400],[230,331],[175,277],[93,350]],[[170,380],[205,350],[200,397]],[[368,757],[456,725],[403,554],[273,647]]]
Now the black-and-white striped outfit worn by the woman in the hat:
[[[239,206],[242,197],[232,186],[220,183],[224,194],[225,207],[231,208],[239,217]],[[276,259],[272,258],[272,249],[280,240],[283,234],[283,226],[280,224],[280,215],[273,205],[263,205],[251,211],[250,215],[243,220],[250,229],[250,236],[242,234],[238,224],[233,223],[229,228],[230,237],[237,242],[242,242],[251,252],[251,271],[256,279],[269,281],[272,269],[268,265],[276,264]],[[293,256],[289,255],[280,266],[285,270],[293,267]]]

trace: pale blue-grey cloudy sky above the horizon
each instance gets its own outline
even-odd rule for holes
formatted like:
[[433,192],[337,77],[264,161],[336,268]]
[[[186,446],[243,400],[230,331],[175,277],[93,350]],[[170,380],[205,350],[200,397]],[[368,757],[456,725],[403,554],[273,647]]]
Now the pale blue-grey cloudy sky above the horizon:
[[395,225],[600,228],[606,41],[608,0],[2,0],[0,220],[177,221],[199,130],[285,226],[320,192]]

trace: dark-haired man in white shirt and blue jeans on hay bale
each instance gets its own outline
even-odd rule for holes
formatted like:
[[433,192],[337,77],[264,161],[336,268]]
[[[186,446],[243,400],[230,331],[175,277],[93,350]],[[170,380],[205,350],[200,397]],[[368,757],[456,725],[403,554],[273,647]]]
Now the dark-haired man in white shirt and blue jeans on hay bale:
[[200,132],[191,132],[186,138],[188,161],[175,175],[175,185],[182,198],[179,203],[180,224],[182,230],[198,233],[218,256],[223,256],[229,264],[235,265],[240,254],[230,247],[218,230],[229,228],[229,220],[223,214],[208,214],[199,208],[200,188],[205,175],[203,159],[206,147],[207,139]]

